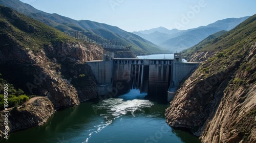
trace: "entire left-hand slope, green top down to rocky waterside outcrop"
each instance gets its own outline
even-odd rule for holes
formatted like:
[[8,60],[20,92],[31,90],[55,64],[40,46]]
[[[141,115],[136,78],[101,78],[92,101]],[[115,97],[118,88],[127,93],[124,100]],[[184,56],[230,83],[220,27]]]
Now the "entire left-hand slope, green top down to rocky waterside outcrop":
[[[85,61],[103,49],[77,41],[44,23],[0,6],[0,73],[26,94],[45,96],[10,111],[10,131],[45,123],[54,110],[97,97],[97,81]],[[2,91],[1,91],[2,92]],[[1,118],[1,131],[3,131]]]

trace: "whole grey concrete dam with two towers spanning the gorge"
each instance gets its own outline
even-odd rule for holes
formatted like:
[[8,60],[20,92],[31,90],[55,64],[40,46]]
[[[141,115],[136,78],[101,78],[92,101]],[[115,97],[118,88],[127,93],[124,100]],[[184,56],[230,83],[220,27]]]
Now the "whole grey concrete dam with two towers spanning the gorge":
[[174,59],[125,59],[105,53],[102,61],[86,62],[98,82],[98,94],[104,96],[112,90],[117,95],[131,89],[140,89],[147,96],[170,101],[176,87],[200,63],[182,62],[181,54]]

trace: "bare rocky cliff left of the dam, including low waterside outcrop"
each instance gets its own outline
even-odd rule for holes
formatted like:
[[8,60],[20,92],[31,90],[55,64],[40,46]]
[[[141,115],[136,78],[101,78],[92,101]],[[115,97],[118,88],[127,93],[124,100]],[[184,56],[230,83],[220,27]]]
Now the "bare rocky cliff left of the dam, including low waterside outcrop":
[[42,125],[54,110],[96,98],[97,81],[84,62],[101,59],[102,54],[101,47],[94,44],[68,42],[45,45],[39,52],[19,46],[0,49],[2,74],[27,93],[46,96],[11,110],[10,131]]

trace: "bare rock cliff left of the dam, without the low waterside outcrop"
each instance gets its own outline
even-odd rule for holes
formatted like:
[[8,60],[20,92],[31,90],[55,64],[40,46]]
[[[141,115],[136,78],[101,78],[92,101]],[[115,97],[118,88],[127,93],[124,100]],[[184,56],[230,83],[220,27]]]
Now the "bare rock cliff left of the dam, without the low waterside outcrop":
[[[5,59],[3,63],[7,65],[2,73],[19,71],[19,74],[11,77],[12,80],[26,77],[26,80],[20,79],[20,84],[27,85],[24,90],[30,94],[48,96],[56,110],[97,97],[97,81],[90,66],[83,64],[88,60],[101,59],[103,50],[94,44],[60,42],[54,46],[46,45],[45,49],[39,52],[27,52],[18,46],[13,47],[11,51],[0,51],[2,58]],[[70,78],[74,82],[79,82],[79,75],[87,75],[80,83],[88,84],[74,87],[72,82],[68,82]]]

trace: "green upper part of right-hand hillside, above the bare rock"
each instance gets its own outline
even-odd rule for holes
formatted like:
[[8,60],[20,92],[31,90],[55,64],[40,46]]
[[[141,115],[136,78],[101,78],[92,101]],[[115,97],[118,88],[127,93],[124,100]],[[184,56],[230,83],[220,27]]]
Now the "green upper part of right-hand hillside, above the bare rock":
[[[212,55],[201,66],[201,71],[205,76],[212,75],[218,71],[224,71],[231,65],[239,64],[242,67],[246,67],[247,63],[244,57],[248,54],[248,48],[254,45],[256,41],[256,14],[249,17],[236,28],[225,34],[223,33],[225,32],[212,35],[211,37],[217,38],[212,40],[207,40],[206,38],[199,44],[184,51],[185,56],[195,55],[200,52],[217,52],[216,55]],[[218,37],[218,35],[221,36]],[[211,39],[211,37],[208,38]],[[248,65],[247,70],[254,72],[255,63]],[[255,72],[253,77],[256,78]]]

